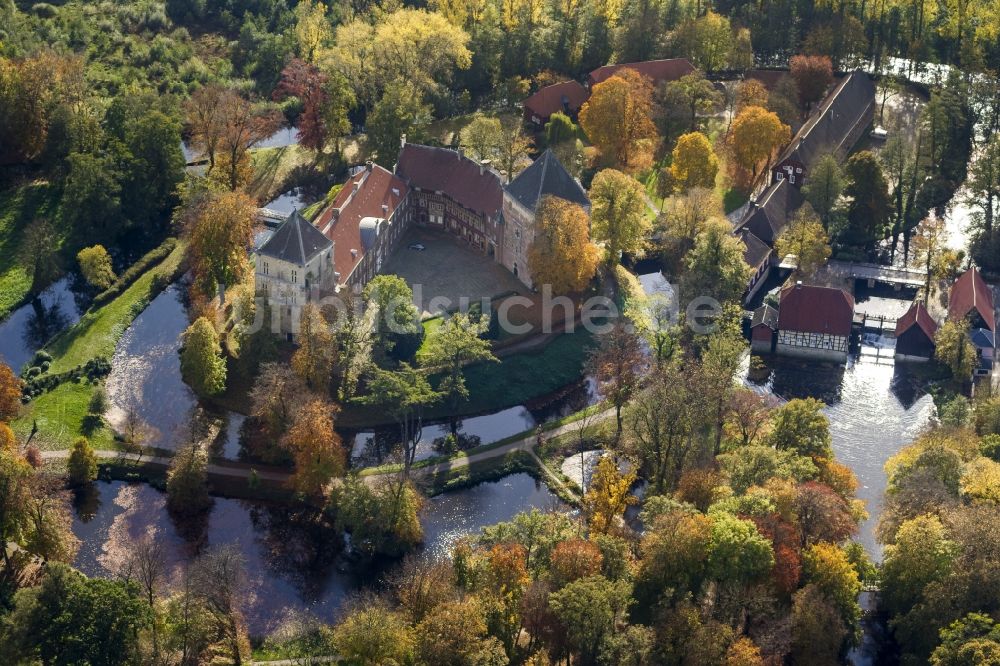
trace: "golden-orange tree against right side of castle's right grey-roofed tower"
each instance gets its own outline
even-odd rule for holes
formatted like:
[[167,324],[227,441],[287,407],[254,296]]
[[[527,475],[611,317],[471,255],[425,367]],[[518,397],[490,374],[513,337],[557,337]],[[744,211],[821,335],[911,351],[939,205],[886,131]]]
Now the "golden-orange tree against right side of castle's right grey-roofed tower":
[[590,241],[587,213],[563,199],[543,197],[535,217],[535,239],[528,248],[532,282],[551,285],[554,294],[583,291],[601,261]]

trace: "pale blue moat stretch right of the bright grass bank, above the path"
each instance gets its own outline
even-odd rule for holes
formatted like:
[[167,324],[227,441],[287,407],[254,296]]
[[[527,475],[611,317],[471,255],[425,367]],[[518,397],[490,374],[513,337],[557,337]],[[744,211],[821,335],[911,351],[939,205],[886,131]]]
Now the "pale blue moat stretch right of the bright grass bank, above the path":
[[111,362],[108,420],[121,431],[130,413],[138,415],[147,446],[176,448],[197,407],[177,353],[188,323],[181,297],[171,285],[154,298],[122,334]]

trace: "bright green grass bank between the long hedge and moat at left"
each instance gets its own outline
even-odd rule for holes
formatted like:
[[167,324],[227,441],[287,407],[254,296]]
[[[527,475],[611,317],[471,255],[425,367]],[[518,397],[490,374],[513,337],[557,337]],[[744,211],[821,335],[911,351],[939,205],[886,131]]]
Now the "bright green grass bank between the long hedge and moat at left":
[[[104,307],[87,312],[79,322],[66,329],[46,349],[52,354],[51,372],[69,370],[96,356],[108,359],[114,354],[118,338],[145,307],[150,285],[156,275],[172,276],[184,257],[184,243],[178,243],[155,268],[147,271],[118,298]],[[25,406],[12,424],[14,431],[27,437],[37,422],[35,443],[41,449],[69,448],[82,432],[93,387],[86,383],[64,383],[43,393]],[[111,432],[101,428],[90,435],[95,448],[114,446]]]

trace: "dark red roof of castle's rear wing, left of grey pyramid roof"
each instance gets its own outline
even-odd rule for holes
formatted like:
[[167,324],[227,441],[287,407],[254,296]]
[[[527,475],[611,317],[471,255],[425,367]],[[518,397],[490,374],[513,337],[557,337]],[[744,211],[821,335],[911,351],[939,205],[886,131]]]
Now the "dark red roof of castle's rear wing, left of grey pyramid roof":
[[479,215],[500,219],[503,184],[500,176],[450,148],[403,145],[396,175],[410,187],[445,192],[453,201]]

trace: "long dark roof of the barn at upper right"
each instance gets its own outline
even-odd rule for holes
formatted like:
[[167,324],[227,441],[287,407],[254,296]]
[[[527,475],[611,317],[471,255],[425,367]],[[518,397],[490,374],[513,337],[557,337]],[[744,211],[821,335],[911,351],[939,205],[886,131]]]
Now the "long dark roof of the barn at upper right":
[[792,137],[776,164],[791,160],[809,167],[824,153],[843,156],[853,147],[846,144],[855,128],[870,122],[874,109],[875,84],[864,72],[851,72]]

